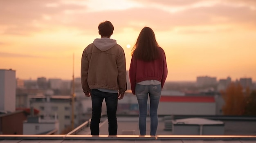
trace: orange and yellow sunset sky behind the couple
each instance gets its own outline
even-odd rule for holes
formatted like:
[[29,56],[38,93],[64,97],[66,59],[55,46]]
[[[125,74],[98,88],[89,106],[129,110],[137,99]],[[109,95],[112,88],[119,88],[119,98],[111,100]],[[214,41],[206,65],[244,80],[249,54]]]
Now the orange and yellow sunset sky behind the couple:
[[[109,20],[131,48],[144,26],[165,53],[168,81],[256,81],[256,0],[0,0],[0,69],[20,79],[80,77],[81,55]],[[126,46],[130,44],[131,48]]]

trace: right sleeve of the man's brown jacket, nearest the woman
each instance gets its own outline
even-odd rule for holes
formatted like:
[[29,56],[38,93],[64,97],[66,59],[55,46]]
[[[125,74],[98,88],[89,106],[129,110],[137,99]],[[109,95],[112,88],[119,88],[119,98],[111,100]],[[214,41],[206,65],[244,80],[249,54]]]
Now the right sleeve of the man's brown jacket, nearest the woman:
[[117,81],[119,85],[119,93],[124,94],[127,90],[127,81],[126,81],[126,59],[124,50],[122,50],[121,54],[117,58]]

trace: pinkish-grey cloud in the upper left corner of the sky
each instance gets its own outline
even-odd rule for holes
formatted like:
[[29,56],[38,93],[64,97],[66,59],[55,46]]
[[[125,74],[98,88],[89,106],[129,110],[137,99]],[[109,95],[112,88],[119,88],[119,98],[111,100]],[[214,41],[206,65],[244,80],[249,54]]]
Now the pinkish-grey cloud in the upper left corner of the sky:
[[1,0],[0,26],[7,27],[4,34],[27,35],[43,29],[51,30],[54,26],[65,24],[65,12],[86,9],[85,6],[62,3],[61,0],[26,0],[25,2]]

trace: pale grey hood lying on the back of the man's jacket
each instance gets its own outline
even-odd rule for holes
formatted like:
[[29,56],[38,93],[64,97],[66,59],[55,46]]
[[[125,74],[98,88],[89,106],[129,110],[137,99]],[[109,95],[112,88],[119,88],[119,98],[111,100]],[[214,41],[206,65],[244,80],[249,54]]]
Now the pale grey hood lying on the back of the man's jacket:
[[93,44],[100,50],[100,51],[107,51],[113,46],[117,44],[117,40],[113,40],[110,38],[97,38],[93,41]]

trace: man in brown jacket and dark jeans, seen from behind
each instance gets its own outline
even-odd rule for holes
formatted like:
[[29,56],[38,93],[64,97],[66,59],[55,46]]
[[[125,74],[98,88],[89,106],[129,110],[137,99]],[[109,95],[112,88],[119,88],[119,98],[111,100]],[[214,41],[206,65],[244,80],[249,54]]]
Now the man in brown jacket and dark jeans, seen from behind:
[[126,60],[124,49],[110,39],[114,26],[101,22],[98,26],[101,38],[97,38],[83,51],[81,82],[86,97],[92,98],[91,134],[99,135],[99,122],[103,99],[108,114],[108,134],[117,135],[117,101],[126,91]]

